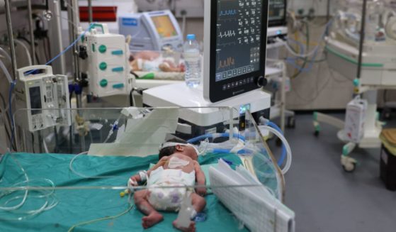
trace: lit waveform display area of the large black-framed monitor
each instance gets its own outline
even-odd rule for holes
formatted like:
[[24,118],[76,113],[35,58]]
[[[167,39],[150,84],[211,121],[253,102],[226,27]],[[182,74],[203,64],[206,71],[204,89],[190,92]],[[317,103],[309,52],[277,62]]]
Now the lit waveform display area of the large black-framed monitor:
[[263,0],[217,0],[216,82],[260,69]]

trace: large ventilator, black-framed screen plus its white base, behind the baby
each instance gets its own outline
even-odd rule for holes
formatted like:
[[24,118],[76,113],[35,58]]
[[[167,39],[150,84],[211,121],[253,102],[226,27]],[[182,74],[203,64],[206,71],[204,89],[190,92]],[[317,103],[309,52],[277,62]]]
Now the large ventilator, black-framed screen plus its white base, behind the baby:
[[[266,1],[205,1],[203,86],[190,89],[180,83],[148,89],[143,104],[232,106],[241,114],[249,109],[257,119],[268,118],[271,96],[259,89],[266,84],[267,11]],[[187,124],[211,126],[220,120],[217,115],[216,109],[191,109],[181,118]]]

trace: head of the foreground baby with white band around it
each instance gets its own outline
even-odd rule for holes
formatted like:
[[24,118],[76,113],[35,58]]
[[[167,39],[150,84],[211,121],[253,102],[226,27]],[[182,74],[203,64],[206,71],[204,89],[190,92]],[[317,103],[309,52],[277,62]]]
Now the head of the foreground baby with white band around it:
[[186,155],[193,160],[198,159],[198,150],[193,145],[187,143],[186,140],[172,138],[162,144],[162,148],[159,150],[159,160],[174,153]]

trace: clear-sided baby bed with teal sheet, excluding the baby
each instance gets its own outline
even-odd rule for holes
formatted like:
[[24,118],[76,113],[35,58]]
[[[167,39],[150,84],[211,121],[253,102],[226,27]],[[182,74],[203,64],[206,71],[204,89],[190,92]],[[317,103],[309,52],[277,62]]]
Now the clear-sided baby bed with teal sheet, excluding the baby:
[[[43,109],[46,114],[52,111],[56,109]],[[191,109],[69,111],[71,126],[54,126],[40,134],[16,128],[18,152],[0,161],[1,231],[142,230],[144,215],[135,206],[135,194],[166,192],[169,187],[127,182],[132,175],[146,177],[150,164],[159,162],[159,149],[175,145],[165,143],[172,138],[185,140],[185,147],[198,153],[205,175],[203,186],[172,186],[206,189],[205,209],[190,218],[197,231],[294,231],[294,213],[283,205],[290,148],[285,143],[288,155],[279,162],[264,140],[266,127],[271,127],[264,118],[266,126],[258,126],[247,110],[242,129],[239,109],[220,107],[220,123],[198,126],[200,132],[191,135],[183,133],[179,121]],[[172,167],[186,165],[176,161]],[[150,177],[147,182],[152,182]],[[179,214],[159,211],[163,221],[152,231],[171,231],[175,220],[191,223],[182,213],[192,212],[194,202],[188,194],[179,200]]]

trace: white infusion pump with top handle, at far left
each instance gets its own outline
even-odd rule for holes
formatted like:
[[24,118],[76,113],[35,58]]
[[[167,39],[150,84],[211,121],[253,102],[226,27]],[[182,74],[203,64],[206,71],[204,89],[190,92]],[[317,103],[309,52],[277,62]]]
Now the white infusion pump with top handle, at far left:
[[[32,70],[40,73],[28,74]],[[52,67],[37,65],[19,69],[15,92],[16,125],[30,132],[71,125],[67,76],[52,74]]]

